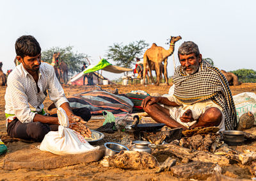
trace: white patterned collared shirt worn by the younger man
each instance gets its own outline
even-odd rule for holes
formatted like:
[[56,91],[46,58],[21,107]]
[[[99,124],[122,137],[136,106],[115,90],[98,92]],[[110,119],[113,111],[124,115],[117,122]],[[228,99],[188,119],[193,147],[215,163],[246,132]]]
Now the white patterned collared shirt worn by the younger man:
[[[8,75],[7,88],[4,95],[5,113],[15,114],[22,123],[33,122],[36,113],[40,113],[47,97],[54,102],[56,107],[68,102],[61,84],[59,83],[54,68],[48,63],[41,63],[38,71],[38,88],[32,75],[25,70],[22,64]],[[31,111],[35,111],[33,113]]]

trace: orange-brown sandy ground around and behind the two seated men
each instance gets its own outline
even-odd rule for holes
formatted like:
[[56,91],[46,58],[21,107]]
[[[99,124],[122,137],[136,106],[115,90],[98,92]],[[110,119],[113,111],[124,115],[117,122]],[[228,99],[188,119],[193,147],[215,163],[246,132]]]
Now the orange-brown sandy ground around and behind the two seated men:
[[[73,95],[88,91],[92,89],[92,86],[63,86],[66,95]],[[148,93],[168,93],[170,87],[168,86],[141,86],[140,84],[129,86],[102,86],[106,90],[119,90],[119,93],[128,93],[132,90],[144,90]],[[250,91],[256,93],[256,83],[244,83],[240,86],[231,86],[232,94],[236,95],[244,91]],[[0,138],[6,137],[5,116],[4,116],[4,93],[6,87],[0,87]],[[44,102],[45,107],[51,104],[51,100],[47,98]],[[88,127],[95,129],[102,125],[104,120],[90,120]],[[109,141],[111,136],[106,135],[105,141]],[[118,136],[116,139],[119,139]],[[17,150],[36,149],[36,146],[40,143],[23,143],[21,141],[6,143],[8,146],[8,153],[16,152]],[[256,150],[256,143],[250,143],[239,148],[250,148]],[[6,153],[6,154],[8,154]],[[0,155],[0,163],[3,161],[4,155]],[[170,153],[154,153],[159,162],[163,162]],[[249,169],[246,166],[239,167],[239,164],[232,164],[222,168],[223,175],[233,178],[252,178]],[[55,176],[54,176],[55,175]],[[90,164],[77,164],[75,166],[67,166],[65,168],[58,169],[17,169],[14,171],[8,171],[0,169],[0,180],[178,180],[178,178],[172,177],[170,171],[164,171],[162,173],[154,173],[153,169],[142,170],[130,170],[119,168],[104,168],[99,162],[92,162]]]

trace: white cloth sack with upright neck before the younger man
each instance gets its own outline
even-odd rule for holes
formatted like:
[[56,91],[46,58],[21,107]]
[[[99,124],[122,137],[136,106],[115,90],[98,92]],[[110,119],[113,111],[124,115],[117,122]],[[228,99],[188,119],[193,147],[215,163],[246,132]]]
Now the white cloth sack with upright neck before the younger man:
[[57,110],[60,126],[58,131],[48,132],[41,145],[40,150],[57,155],[85,153],[99,150],[99,146],[93,147],[78,132],[68,129],[68,116],[61,107]]

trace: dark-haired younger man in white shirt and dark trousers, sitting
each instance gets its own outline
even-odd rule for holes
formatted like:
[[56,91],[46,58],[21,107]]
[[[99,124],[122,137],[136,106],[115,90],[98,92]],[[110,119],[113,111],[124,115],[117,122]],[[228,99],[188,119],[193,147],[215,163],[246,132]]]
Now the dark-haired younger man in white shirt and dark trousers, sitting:
[[49,131],[58,130],[58,118],[46,116],[43,109],[47,93],[56,107],[66,111],[69,122],[74,123],[72,129],[91,136],[92,132],[83,125],[91,117],[90,110],[84,109],[84,114],[79,116],[75,110],[73,113],[54,68],[41,63],[41,47],[36,39],[30,35],[20,36],[15,51],[21,64],[8,76],[4,96],[8,136],[40,142]]

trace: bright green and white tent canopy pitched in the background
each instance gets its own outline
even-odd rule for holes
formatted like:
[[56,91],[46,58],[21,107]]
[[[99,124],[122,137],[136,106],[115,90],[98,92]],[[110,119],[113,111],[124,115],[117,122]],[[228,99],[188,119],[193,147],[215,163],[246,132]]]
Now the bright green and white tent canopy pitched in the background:
[[[70,79],[70,81],[68,81],[68,82],[69,82],[69,84],[76,84],[77,80],[81,80],[82,81],[81,85],[83,85],[83,76],[85,74],[90,73],[90,72],[93,72],[93,75],[96,75],[100,79],[108,80],[105,77],[103,77],[102,75],[97,74],[97,72],[95,72],[97,70],[105,70],[105,71],[108,71],[108,72],[113,72],[115,74],[120,74],[122,72],[133,71],[133,69],[131,69],[131,68],[117,67],[117,66],[112,65],[111,63],[109,63],[106,59],[101,59],[99,61],[99,63],[97,63],[97,65],[89,65],[82,72],[80,72],[76,76],[72,77]],[[96,79],[98,79],[98,78],[96,78]],[[93,83],[95,83],[94,79],[93,79]],[[97,84],[97,82],[96,82],[96,84]]]

